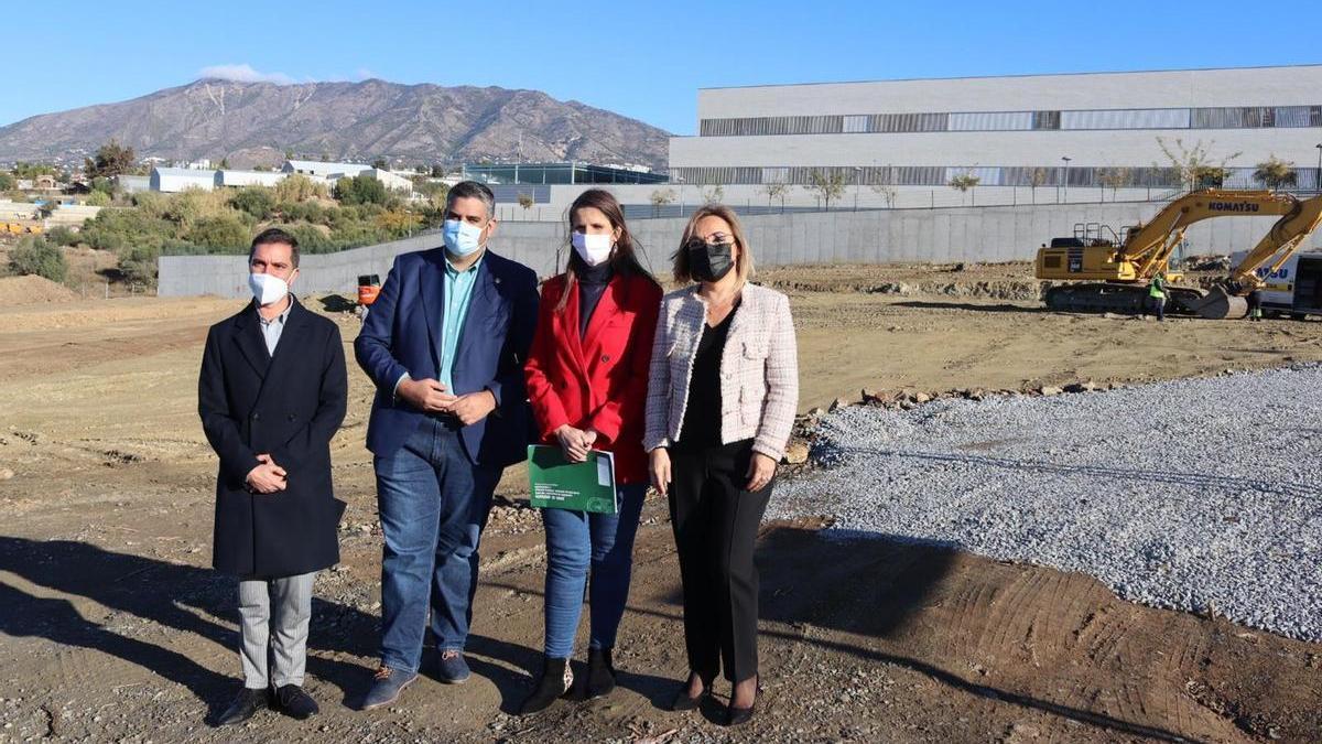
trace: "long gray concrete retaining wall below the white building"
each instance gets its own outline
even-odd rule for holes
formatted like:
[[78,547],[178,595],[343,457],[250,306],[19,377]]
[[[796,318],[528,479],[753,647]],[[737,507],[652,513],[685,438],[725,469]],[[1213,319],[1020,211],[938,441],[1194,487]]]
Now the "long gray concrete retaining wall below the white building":
[[[1056,236],[1073,234],[1076,222],[1121,225],[1150,218],[1159,204],[1063,204],[968,207],[951,209],[878,209],[760,214],[743,220],[759,265],[900,263],[953,261],[1029,261]],[[1191,254],[1229,254],[1252,248],[1276,217],[1208,220],[1187,233]],[[685,220],[635,220],[645,263],[666,273]],[[385,279],[394,257],[440,245],[438,233],[341,253],[304,256],[300,293],[353,293],[360,274]],[[1322,237],[1309,240],[1322,248]],[[562,222],[502,222],[492,248],[549,277],[563,262]],[[561,249],[561,250],[558,250]],[[161,297],[214,294],[245,297],[247,262],[242,256],[165,256],[160,258]]]

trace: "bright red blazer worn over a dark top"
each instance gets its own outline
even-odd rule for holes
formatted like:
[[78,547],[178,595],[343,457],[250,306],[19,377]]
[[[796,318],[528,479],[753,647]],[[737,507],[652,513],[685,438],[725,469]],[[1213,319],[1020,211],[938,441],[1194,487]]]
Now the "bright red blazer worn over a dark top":
[[579,338],[579,293],[563,311],[564,275],[542,286],[537,334],[524,372],[542,441],[558,445],[563,424],[598,432],[594,449],[615,454],[620,483],[648,479],[642,412],[661,289],[642,277],[613,277]]

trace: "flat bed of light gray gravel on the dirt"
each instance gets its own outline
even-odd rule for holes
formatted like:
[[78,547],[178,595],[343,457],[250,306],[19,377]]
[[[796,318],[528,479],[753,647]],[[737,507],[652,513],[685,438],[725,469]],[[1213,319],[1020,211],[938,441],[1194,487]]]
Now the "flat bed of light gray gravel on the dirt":
[[1322,641],[1322,367],[1055,397],[851,406],[771,516],[1096,576]]

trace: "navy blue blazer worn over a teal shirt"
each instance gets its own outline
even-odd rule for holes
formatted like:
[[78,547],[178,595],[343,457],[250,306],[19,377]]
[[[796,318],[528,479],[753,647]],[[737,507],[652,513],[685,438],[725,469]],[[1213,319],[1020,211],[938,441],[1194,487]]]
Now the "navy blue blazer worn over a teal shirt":
[[[394,454],[426,414],[395,400],[395,383],[440,379],[440,324],[444,312],[446,250],[434,248],[395,257],[381,294],[353,343],[354,356],[377,385],[368,422],[368,449]],[[496,410],[460,429],[469,461],[505,467],[527,457],[531,416],[524,363],[537,328],[537,274],[522,263],[483,257],[452,377],[453,395],[488,389]]]

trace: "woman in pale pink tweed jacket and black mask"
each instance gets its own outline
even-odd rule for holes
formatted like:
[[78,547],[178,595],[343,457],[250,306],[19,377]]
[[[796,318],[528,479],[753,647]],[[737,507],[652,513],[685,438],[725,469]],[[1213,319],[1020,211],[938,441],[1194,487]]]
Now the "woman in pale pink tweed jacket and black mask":
[[[785,295],[748,283],[752,254],[728,207],[689,220],[652,346],[646,432],[652,485],[670,502],[683,582],[689,682],[676,710],[711,694],[724,667],[728,718],[758,696],[758,524],[798,405]],[[722,665],[722,662],[724,662]]]

